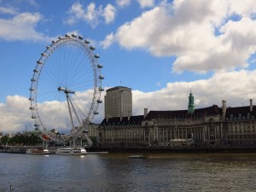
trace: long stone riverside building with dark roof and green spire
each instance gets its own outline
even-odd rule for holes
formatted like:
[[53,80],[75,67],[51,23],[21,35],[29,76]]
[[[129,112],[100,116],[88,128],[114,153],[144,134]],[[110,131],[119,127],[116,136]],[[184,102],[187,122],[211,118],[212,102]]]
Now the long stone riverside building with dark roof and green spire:
[[99,125],[102,146],[152,148],[256,148],[256,108],[212,105],[195,108],[190,92],[187,110],[149,111],[105,118]]

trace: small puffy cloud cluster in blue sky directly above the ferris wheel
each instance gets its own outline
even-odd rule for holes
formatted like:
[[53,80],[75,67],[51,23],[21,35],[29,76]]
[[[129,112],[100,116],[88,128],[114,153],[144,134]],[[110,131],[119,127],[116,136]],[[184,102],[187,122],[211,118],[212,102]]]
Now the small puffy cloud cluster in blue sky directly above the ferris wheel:
[[111,23],[115,19],[116,9],[111,4],[108,4],[105,8],[103,8],[102,5],[97,8],[95,3],[90,3],[84,8],[81,3],[77,2],[73,3],[67,13],[69,16],[65,22],[69,25],[83,20],[91,27],[96,27],[102,22],[102,19],[107,24]]

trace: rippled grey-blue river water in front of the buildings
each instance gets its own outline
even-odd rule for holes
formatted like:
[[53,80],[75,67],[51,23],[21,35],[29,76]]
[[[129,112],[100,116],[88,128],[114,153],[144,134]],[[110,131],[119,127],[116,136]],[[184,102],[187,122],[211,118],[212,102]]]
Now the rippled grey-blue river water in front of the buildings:
[[256,154],[0,154],[0,191],[256,191]]

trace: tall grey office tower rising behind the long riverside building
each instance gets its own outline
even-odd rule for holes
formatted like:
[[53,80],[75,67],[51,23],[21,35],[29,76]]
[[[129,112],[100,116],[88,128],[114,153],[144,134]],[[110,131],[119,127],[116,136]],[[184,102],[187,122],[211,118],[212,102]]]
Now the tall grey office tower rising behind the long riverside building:
[[107,90],[105,96],[105,119],[113,117],[131,117],[131,88],[117,86]]

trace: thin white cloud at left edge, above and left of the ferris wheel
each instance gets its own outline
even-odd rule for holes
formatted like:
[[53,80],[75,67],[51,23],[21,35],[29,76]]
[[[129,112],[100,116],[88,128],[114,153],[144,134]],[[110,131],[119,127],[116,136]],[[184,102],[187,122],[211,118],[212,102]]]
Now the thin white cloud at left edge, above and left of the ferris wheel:
[[42,18],[38,13],[21,13],[12,19],[0,19],[0,38],[7,41],[49,41],[51,38],[35,29]]

